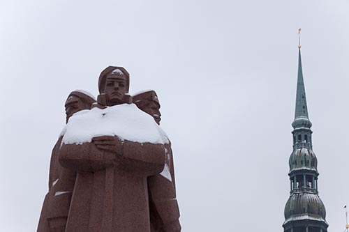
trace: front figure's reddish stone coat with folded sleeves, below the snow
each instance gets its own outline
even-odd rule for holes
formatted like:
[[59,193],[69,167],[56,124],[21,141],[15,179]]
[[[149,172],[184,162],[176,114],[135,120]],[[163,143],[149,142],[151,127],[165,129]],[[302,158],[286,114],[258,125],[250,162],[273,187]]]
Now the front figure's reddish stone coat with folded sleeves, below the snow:
[[117,154],[63,144],[59,162],[77,171],[67,232],[150,231],[147,177],[163,170],[163,144],[121,141]]

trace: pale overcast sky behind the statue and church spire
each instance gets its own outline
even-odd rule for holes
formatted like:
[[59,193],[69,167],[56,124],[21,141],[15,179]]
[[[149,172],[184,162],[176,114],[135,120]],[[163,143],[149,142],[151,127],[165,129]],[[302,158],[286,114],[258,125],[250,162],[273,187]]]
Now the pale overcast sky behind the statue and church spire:
[[183,231],[283,231],[297,29],[329,231],[349,206],[349,0],[0,1],[0,224],[35,231],[70,91],[154,88]]

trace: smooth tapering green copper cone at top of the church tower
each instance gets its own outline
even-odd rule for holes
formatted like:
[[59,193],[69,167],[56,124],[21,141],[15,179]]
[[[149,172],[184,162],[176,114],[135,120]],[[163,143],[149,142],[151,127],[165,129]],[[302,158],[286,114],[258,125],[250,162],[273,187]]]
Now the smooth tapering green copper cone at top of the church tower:
[[301,49],[299,47],[298,54],[298,79],[297,79],[297,97],[296,97],[296,110],[295,118],[309,118],[308,116],[308,107],[306,105],[306,94],[304,88],[304,79],[302,72],[302,58],[301,58]]

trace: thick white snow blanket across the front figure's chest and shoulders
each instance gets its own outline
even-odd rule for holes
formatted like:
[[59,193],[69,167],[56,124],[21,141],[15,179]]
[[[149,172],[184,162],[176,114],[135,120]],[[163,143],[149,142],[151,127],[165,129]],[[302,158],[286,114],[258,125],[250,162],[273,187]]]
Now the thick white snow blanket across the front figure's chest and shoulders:
[[66,125],[63,143],[83,144],[103,135],[140,143],[168,144],[165,132],[154,118],[134,104],[80,111]]

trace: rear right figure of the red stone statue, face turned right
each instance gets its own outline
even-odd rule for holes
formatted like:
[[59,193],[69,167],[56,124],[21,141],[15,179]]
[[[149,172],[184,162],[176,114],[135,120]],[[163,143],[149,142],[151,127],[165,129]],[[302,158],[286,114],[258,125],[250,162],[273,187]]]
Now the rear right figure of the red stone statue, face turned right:
[[[155,91],[133,95],[133,102],[160,125],[160,102]],[[168,150],[165,169],[147,178],[151,232],[181,231],[171,144],[165,144],[165,148]]]

